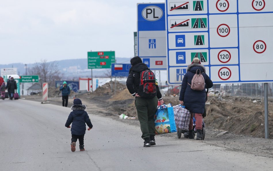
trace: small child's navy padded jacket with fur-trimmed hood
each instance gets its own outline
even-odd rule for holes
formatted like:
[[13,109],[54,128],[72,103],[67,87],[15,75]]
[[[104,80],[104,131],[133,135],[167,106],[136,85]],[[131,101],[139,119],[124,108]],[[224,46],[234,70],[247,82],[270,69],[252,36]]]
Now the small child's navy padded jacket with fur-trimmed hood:
[[73,110],[65,123],[65,127],[69,127],[69,125],[72,123],[71,126],[71,134],[72,135],[84,135],[86,131],[86,125],[88,127],[92,128],[93,125],[89,119],[89,116],[86,111],[85,105],[73,105],[71,107]]

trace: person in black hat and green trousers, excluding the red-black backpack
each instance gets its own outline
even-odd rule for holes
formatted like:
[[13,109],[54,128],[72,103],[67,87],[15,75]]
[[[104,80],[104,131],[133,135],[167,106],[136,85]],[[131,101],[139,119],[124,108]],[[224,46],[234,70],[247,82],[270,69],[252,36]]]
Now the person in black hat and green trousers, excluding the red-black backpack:
[[[155,141],[155,125],[154,114],[156,113],[158,100],[161,104],[164,103],[162,95],[156,83],[156,96],[153,98],[143,98],[139,95],[140,73],[149,69],[146,64],[142,63],[140,57],[133,57],[130,60],[132,67],[129,71],[129,76],[126,81],[126,86],[132,96],[136,98],[135,105],[137,116],[140,122],[142,132],[141,138],[144,139],[144,147],[156,145]],[[143,93],[143,92],[142,92]]]

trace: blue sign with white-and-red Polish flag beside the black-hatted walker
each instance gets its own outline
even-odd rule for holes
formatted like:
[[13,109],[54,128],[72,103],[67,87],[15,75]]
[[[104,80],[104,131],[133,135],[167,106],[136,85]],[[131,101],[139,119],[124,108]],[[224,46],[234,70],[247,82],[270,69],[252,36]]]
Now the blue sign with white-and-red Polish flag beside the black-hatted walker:
[[131,64],[112,63],[112,77],[127,77],[131,67]]

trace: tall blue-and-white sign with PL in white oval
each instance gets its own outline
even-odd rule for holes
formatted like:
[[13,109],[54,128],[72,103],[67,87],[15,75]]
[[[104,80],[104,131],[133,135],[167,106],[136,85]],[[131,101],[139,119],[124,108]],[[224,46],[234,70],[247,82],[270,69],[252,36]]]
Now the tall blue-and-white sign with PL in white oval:
[[164,3],[137,4],[138,56],[150,69],[166,70]]

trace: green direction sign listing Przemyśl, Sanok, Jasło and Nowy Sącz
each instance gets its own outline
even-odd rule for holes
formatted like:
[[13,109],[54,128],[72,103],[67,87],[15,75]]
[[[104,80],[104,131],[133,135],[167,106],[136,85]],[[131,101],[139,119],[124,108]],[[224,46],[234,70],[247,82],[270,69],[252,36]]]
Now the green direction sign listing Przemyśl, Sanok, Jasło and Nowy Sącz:
[[115,51],[87,52],[88,69],[111,68],[115,63]]

